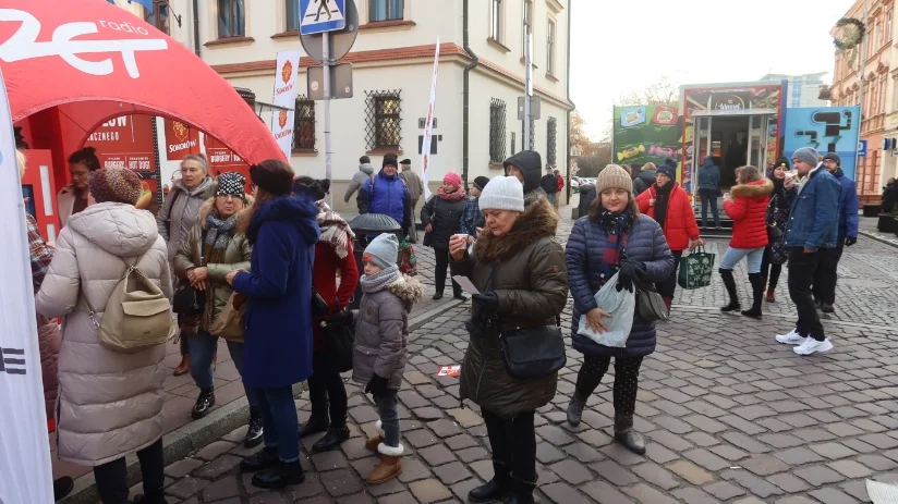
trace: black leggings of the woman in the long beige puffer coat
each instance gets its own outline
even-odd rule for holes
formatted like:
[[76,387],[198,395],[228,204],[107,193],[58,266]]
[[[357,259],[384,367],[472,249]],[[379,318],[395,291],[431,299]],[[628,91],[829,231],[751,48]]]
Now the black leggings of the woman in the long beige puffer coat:
[[[144,477],[144,495],[162,492],[166,465],[162,460],[162,439],[137,452]],[[124,457],[94,467],[97,492],[104,504],[128,504],[128,464]]]

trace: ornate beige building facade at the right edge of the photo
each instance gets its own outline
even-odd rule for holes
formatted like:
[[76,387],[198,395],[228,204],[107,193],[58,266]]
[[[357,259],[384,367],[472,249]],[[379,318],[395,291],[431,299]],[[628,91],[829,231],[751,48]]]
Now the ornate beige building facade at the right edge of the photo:
[[[860,159],[855,181],[862,204],[877,202],[882,187],[895,176],[893,152],[883,147],[883,139],[898,134],[898,100],[895,96],[895,0],[857,0],[846,17],[863,21],[866,34],[862,46],[848,51],[835,51],[833,86],[834,106],[861,107],[861,139],[867,142],[867,153]],[[861,54],[865,54],[862,61]],[[863,82],[861,81],[863,75]],[[863,86],[863,93],[861,87]],[[863,102],[862,102],[863,101]]]

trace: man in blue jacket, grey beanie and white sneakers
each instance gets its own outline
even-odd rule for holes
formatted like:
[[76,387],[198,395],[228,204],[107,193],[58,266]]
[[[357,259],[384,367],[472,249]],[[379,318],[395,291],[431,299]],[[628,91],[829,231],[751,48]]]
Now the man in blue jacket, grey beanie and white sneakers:
[[786,248],[789,250],[789,296],[796,304],[798,321],[788,334],[776,336],[787,345],[798,345],[794,353],[812,355],[829,352],[833,343],[826,337],[820,321],[811,284],[821,265],[828,263],[837,253],[840,187],[836,177],[817,163],[817,151],[804,147],[792,155],[792,167],[801,176],[787,174],[786,197],[791,205],[786,226]]

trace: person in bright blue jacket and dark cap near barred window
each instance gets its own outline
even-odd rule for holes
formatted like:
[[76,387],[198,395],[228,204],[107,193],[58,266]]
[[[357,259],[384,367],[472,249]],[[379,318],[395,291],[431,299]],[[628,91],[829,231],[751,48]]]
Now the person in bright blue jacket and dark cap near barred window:
[[412,225],[412,202],[409,188],[397,173],[396,155],[384,156],[381,170],[359,189],[359,213],[383,213],[392,217],[402,226],[402,234]]

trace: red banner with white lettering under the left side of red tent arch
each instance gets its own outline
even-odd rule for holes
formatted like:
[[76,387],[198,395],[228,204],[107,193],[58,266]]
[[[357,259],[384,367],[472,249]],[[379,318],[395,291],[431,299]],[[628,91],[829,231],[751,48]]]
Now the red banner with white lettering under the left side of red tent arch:
[[84,145],[97,149],[105,168],[128,168],[139,173],[156,169],[150,115],[120,115],[107,121],[90,133]]

